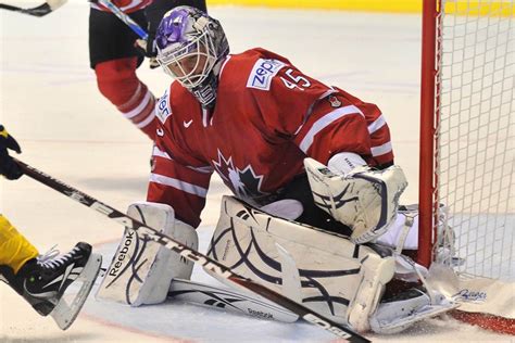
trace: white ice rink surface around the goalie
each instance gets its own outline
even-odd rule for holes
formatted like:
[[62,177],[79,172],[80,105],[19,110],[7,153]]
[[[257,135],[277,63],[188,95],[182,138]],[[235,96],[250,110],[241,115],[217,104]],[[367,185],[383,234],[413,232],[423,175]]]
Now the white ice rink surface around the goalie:
[[[377,103],[390,123],[397,162],[409,178],[405,203],[416,202],[420,17],[330,11],[212,8],[233,52],[263,47],[306,74]],[[88,61],[88,4],[71,1],[41,18],[2,11],[0,123],[22,144],[22,161],[125,211],[146,196],[150,141],[97,90]],[[169,79],[143,64],[138,72],[155,96]],[[108,256],[123,232],[117,224],[23,177],[2,180],[1,207],[41,252],[76,241]],[[205,249],[219,198],[214,178],[198,232]],[[105,258],[104,264],[106,264]],[[193,280],[215,282],[200,269]],[[445,318],[375,342],[511,341]],[[307,323],[264,321],[169,302],[127,308],[90,297],[76,323],[60,331],[9,287],[0,285],[1,342],[329,342]]]

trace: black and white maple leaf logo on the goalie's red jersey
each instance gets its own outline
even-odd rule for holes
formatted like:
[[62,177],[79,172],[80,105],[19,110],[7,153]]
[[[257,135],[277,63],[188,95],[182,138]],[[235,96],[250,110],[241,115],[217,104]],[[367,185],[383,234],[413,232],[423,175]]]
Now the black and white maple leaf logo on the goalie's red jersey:
[[218,150],[218,161],[213,161],[214,168],[225,183],[241,199],[254,199],[265,195],[261,191],[263,175],[256,175],[251,165],[243,169],[234,166],[233,157],[225,158]]

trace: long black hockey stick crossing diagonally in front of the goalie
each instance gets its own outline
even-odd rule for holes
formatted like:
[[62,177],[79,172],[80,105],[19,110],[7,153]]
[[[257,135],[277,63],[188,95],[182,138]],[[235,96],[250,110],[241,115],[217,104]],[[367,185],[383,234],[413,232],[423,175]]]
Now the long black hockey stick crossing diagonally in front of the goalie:
[[230,268],[222,265],[217,261],[214,261],[200,252],[188,247],[187,245],[174,240],[173,238],[161,233],[160,231],[146,226],[145,224],[127,216],[126,214],[96,200],[95,198],[89,196],[86,193],[40,172],[20,160],[13,158],[22,168],[24,174],[28,177],[48,186],[49,188],[79,202],[80,204],[90,207],[102,215],[111,218],[123,226],[130,228],[133,230],[138,231],[138,234],[145,237],[148,240],[152,240],[158,242],[159,244],[169,249],[171,251],[179,254],[180,256],[202,265],[204,268],[209,269],[210,271],[218,275],[222,278],[225,278],[236,284],[239,284],[242,288],[246,288],[276,304],[282,306],[292,313],[299,315],[299,317],[303,318],[305,321],[311,322],[314,326],[321,327],[326,331],[331,332],[332,334],[346,339],[349,342],[370,342],[364,336],[360,335],[359,333],[354,332],[352,329],[337,323],[314,310],[301,305],[262,284],[255,283],[254,281],[243,278],[236,272],[234,272]]

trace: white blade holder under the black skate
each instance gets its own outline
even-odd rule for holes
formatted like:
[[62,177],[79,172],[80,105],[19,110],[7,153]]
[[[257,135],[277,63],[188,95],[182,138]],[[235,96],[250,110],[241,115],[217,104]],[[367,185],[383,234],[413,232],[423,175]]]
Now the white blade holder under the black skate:
[[74,322],[75,318],[77,318],[89,292],[91,292],[91,288],[93,287],[95,280],[100,271],[101,264],[102,256],[99,254],[91,254],[88,263],[83,269],[83,272],[80,272],[75,281],[83,281],[83,284],[72,303],[66,303],[64,297],[62,297],[55,308],[50,313],[50,316],[55,320],[60,329],[66,330]]

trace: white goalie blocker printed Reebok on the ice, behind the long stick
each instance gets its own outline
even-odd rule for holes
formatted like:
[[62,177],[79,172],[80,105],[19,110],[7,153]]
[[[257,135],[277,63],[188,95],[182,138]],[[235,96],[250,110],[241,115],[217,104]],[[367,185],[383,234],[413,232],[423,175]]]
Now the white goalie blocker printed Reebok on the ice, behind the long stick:
[[[168,205],[137,202],[128,207],[127,214],[189,247],[199,246],[194,229],[177,220]],[[172,279],[189,280],[192,268],[193,263],[126,228],[97,298],[130,306],[158,304],[166,298]]]

